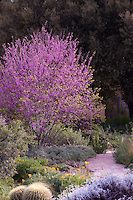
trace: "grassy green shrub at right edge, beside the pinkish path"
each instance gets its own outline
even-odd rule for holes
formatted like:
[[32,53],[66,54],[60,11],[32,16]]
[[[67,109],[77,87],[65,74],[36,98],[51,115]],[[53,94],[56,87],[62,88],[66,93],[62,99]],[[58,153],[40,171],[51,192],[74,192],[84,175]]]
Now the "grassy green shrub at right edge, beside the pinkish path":
[[132,138],[123,138],[116,149],[115,158],[118,163],[128,166],[133,163],[133,140]]

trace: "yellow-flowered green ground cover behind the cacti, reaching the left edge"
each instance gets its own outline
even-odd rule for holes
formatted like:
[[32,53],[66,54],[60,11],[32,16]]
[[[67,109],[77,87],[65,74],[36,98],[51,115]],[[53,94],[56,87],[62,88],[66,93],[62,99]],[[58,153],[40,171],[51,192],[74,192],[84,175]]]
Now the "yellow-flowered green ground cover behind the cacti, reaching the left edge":
[[12,179],[10,178],[11,181],[0,179],[0,197],[2,200],[8,200],[8,193],[14,186],[29,185],[40,181],[48,184],[53,194],[57,196],[70,185],[84,185],[90,177],[91,174],[85,170],[85,167],[82,170],[79,170],[79,168],[70,170],[69,167],[62,170],[58,165],[49,166],[47,160],[18,157],[16,174]]

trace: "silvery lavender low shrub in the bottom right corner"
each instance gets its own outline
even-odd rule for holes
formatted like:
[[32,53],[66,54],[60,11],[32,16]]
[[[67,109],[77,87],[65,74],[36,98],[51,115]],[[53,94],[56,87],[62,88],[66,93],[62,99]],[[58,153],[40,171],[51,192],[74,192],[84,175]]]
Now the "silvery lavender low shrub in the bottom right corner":
[[63,193],[60,200],[132,200],[133,175],[120,179],[106,177],[83,187],[74,189],[70,193]]

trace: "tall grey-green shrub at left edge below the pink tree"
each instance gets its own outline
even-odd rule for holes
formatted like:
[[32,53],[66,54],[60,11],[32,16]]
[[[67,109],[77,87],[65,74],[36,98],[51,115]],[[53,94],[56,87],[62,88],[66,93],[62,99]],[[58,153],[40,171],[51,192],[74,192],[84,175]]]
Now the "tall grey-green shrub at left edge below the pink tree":
[[0,177],[13,176],[15,158],[24,155],[31,136],[25,131],[19,120],[6,123],[0,116]]

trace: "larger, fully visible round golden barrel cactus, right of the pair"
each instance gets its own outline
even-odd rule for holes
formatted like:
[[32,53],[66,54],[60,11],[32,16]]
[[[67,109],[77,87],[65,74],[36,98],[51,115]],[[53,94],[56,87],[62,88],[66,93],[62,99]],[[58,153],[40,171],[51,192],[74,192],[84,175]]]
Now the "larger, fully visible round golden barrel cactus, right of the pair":
[[23,192],[22,200],[51,200],[51,190],[44,183],[33,183]]

